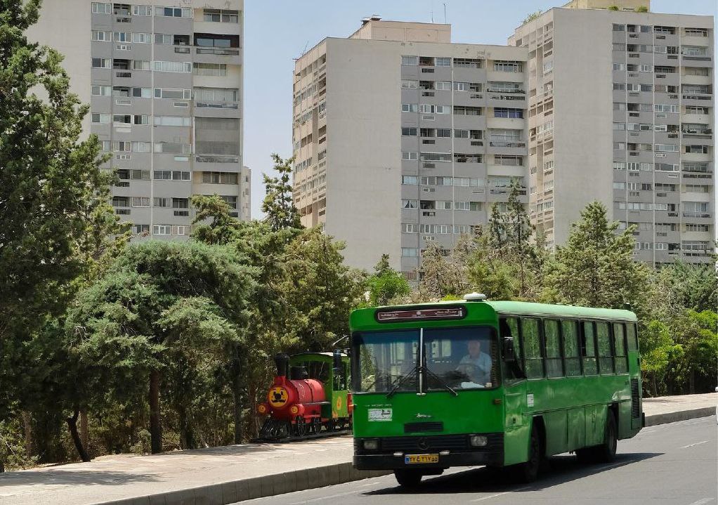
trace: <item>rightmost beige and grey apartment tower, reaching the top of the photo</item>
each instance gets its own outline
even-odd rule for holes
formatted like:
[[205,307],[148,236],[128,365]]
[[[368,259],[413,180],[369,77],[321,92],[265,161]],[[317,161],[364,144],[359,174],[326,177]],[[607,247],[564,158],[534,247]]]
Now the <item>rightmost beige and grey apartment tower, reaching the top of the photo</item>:
[[[620,10],[605,9],[618,4]],[[549,244],[598,199],[635,258],[709,261],[715,240],[712,16],[574,0],[516,29],[528,49],[529,209]]]

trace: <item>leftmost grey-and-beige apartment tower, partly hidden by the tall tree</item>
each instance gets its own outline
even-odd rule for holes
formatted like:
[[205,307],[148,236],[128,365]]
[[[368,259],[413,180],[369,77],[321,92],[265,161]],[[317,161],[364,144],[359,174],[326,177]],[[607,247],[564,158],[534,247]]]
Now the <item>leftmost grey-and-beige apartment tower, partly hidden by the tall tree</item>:
[[182,240],[190,197],[250,218],[242,164],[243,1],[46,1],[29,38],[65,55],[90,104],[84,133],[111,153],[112,204],[141,237]]

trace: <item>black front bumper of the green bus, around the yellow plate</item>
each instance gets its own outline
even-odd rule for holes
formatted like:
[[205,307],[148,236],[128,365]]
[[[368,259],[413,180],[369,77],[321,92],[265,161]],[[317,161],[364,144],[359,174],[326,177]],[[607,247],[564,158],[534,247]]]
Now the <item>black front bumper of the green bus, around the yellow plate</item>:
[[354,468],[357,470],[413,470],[449,468],[452,466],[503,466],[503,453],[475,451],[440,454],[437,463],[405,463],[404,455],[355,454]]

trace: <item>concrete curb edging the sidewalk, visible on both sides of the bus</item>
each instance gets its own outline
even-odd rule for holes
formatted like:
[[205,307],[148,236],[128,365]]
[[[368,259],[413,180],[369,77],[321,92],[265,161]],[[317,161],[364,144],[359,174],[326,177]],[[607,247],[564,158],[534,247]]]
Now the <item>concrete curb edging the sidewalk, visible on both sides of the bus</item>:
[[[662,425],[714,415],[716,407],[703,407],[645,416],[646,426]],[[360,471],[352,463],[304,468],[267,476],[243,478],[194,489],[168,491],[137,498],[103,501],[99,505],[228,505],[237,501],[334,486],[364,478],[384,476],[391,471]]]

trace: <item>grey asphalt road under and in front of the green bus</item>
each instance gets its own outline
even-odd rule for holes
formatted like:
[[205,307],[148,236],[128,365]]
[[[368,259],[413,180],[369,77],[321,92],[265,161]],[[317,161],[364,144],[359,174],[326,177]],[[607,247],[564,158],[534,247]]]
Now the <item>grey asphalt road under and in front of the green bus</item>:
[[424,477],[405,491],[393,476],[241,502],[242,505],[442,504],[676,504],[718,505],[718,426],[715,417],[644,428],[620,440],[615,461],[582,465],[574,456],[551,458],[531,485],[502,481],[487,468],[452,469]]

